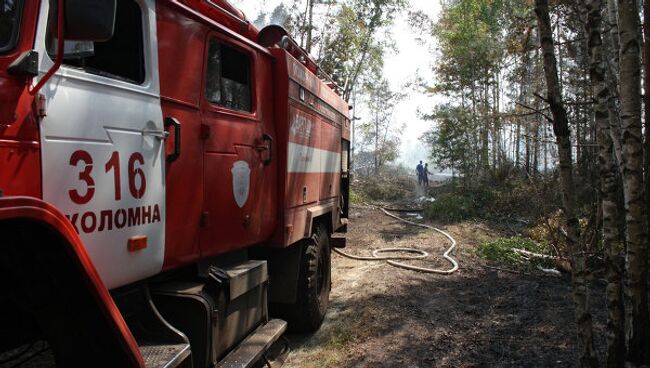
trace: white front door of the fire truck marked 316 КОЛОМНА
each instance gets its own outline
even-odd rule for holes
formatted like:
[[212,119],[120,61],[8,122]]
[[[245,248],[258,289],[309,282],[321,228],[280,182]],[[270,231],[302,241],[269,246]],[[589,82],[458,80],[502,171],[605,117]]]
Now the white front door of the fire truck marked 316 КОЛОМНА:
[[[41,76],[57,52],[54,13],[39,24]],[[66,42],[64,65],[41,91],[43,197],[68,216],[109,288],[160,272],[164,260],[168,133],[155,14],[154,0],[119,0],[113,38]]]

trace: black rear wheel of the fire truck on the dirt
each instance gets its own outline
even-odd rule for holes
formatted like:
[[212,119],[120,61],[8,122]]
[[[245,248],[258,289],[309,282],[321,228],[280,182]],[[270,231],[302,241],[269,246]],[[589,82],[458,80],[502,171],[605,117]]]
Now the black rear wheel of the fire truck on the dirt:
[[293,332],[314,332],[323,323],[331,288],[332,258],[327,227],[318,224],[302,245],[298,295],[285,316]]

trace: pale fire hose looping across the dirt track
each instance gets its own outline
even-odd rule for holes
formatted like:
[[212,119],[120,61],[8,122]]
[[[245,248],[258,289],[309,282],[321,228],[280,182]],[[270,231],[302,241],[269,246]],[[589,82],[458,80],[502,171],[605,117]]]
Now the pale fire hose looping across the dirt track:
[[[412,225],[412,226],[417,226],[417,227],[422,227],[425,229],[433,230],[436,231],[442,235],[444,235],[449,241],[451,242],[451,246],[447,249],[447,251],[443,254],[443,258],[446,259],[450,264],[451,268],[448,270],[440,270],[440,269],[435,269],[435,268],[426,268],[426,267],[419,267],[419,266],[413,266],[410,264],[406,264],[403,262],[398,262],[398,260],[415,260],[415,259],[424,259],[430,256],[429,253],[421,250],[421,249],[415,249],[415,248],[382,248],[382,249],[376,249],[372,252],[371,256],[355,256],[352,254],[345,253],[341,251],[340,249],[333,248],[334,252],[337,254],[342,255],[343,257],[347,257],[350,259],[358,260],[358,261],[386,261],[391,266],[394,267],[399,267],[403,268],[406,270],[412,270],[412,271],[418,271],[418,272],[425,272],[425,273],[437,273],[437,274],[442,274],[442,275],[450,275],[456,271],[458,271],[458,262],[456,262],[455,259],[451,257],[451,253],[454,251],[456,248],[456,240],[449,235],[447,232],[442,231],[438,228],[435,228],[433,226],[429,226],[426,224],[420,224],[414,221],[409,221],[406,219],[403,219],[397,215],[394,215],[390,212],[388,212],[385,208],[377,207],[377,206],[370,206],[372,208],[376,208],[381,210],[385,215],[390,216],[398,221],[404,222],[406,224]],[[396,256],[389,256],[389,255],[382,255],[385,253],[411,253],[411,255],[396,255]]]

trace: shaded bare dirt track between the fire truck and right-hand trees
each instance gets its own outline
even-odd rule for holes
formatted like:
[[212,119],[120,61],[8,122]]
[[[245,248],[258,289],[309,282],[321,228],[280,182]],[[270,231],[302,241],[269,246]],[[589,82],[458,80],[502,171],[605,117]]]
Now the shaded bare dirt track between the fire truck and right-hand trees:
[[[416,247],[447,268],[446,238],[372,208],[351,210],[346,252]],[[573,367],[576,365],[568,276],[485,268],[474,255],[500,234],[480,223],[443,227],[456,238],[460,270],[424,274],[385,262],[332,257],[330,310],[312,335],[289,335],[286,367]],[[592,294],[596,336],[604,336],[604,285]],[[603,341],[597,341],[602,346]]]

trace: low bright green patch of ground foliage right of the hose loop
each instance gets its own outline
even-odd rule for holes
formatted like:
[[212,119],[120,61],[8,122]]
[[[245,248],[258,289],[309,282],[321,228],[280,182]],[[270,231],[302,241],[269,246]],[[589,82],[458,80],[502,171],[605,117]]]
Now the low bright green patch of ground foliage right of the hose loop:
[[536,257],[525,259],[513,249],[522,249],[544,255],[550,255],[551,252],[546,243],[539,243],[530,238],[516,236],[483,242],[476,249],[476,254],[483,259],[519,269],[533,268],[537,265],[542,267],[553,267],[554,265],[553,261],[549,259]]

